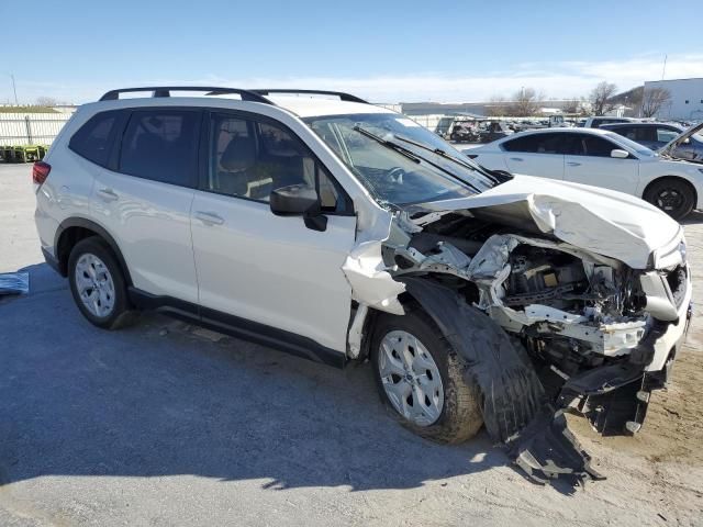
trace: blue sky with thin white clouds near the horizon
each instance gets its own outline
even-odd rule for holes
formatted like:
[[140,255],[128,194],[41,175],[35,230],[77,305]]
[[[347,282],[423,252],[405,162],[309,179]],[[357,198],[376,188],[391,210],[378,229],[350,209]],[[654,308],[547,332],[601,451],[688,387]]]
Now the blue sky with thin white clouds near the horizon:
[[[0,102],[81,103],[119,87],[336,89],[382,102],[585,96],[703,77],[693,8],[660,1],[62,2],[0,0]],[[692,13],[692,12],[691,12]],[[26,13],[25,13],[26,14]],[[11,58],[11,60],[10,60]]]

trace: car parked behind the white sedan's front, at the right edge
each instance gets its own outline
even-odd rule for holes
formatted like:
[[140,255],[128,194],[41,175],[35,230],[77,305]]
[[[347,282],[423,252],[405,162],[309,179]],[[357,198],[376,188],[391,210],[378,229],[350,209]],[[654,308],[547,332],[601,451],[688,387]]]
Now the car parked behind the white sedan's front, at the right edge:
[[[604,124],[601,128],[615,132],[652,150],[663,148],[687,131],[685,126],[676,123],[616,123]],[[703,135],[691,134],[676,149],[677,156],[682,159],[703,159]]]

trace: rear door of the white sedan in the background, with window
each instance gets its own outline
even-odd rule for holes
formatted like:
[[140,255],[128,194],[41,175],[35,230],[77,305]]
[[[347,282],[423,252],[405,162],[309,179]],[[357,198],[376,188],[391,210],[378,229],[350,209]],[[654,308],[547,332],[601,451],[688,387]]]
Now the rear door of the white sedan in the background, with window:
[[563,179],[563,154],[558,133],[517,136],[501,144],[507,170],[513,173]]

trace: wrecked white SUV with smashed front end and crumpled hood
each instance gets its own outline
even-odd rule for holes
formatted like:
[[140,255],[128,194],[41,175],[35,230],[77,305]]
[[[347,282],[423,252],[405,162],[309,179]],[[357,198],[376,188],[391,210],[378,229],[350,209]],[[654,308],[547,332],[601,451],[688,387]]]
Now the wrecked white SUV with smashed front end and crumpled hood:
[[[174,97],[194,90],[209,97]],[[460,441],[484,423],[535,480],[596,475],[562,412],[637,431],[690,316],[665,213],[484,169],[345,93],[111,91],[33,178],[42,250],[92,324],[156,309],[369,359],[413,430]]]

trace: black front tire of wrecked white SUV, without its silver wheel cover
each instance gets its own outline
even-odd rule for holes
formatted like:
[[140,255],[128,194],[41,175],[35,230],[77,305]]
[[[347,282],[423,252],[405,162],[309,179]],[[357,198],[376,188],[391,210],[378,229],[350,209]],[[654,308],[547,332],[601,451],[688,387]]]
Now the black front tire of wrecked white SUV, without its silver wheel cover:
[[[379,371],[379,348],[386,335],[393,330],[408,332],[416,337],[432,355],[442,377],[444,405],[439,417],[428,426],[420,426],[398,412],[383,389]],[[378,316],[371,336],[370,359],[380,396],[399,422],[421,437],[438,442],[462,442],[481,428],[483,419],[479,406],[477,386],[469,385],[464,375],[464,361],[449,343],[439,336],[439,330],[427,314],[417,309],[405,315],[382,313]]]

